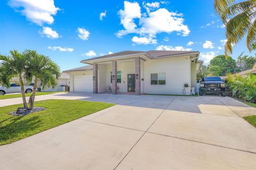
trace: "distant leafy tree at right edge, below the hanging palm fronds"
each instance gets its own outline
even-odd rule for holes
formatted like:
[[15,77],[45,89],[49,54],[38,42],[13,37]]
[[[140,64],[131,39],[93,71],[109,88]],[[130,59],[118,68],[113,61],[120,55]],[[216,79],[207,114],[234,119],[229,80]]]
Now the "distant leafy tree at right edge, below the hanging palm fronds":
[[249,57],[247,55],[244,55],[244,56],[242,55],[243,53],[241,53],[241,55],[238,56],[237,62],[236,62],[239,69],[241,71],[252,69],[252,67],[256,63],[256,57],[253,57],[253,56]]

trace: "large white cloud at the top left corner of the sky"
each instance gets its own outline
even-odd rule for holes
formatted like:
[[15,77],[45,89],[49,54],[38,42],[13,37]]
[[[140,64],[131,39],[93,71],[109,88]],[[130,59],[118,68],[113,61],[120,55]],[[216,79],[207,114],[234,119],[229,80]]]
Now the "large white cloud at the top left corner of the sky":
[[52,24],[54,22],[53,15],[60,10],[60,8],[55,7],[53,0],[10,0],[9,5],[15,11],[25,15],[28,21],[38,25]]

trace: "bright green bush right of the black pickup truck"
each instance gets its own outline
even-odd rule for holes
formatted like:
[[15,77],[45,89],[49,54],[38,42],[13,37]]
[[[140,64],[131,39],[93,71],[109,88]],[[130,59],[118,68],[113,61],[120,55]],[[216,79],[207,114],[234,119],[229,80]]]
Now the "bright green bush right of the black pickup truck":
[[228,75],[227,87],[232,90],[233,97],[256,103],[256,75]]

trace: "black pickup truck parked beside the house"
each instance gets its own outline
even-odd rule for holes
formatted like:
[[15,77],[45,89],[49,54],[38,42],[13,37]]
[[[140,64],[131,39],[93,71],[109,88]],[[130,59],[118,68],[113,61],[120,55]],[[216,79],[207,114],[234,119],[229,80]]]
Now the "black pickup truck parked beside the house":
[[221,94],[222,97],[227,96],[227,89],[225,83],[220,77],[204,77],[200,82],[199,96],[204,94]]

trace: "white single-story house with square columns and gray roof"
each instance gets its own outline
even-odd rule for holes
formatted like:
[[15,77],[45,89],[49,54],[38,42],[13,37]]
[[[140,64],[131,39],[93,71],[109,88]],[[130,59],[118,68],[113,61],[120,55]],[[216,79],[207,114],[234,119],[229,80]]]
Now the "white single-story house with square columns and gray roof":
[[124,51],[82,60],[70,74],[70,91],[95,94],[190,95],[202,65],[199,52]]

